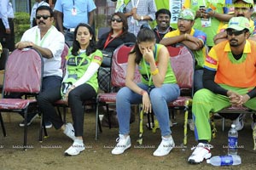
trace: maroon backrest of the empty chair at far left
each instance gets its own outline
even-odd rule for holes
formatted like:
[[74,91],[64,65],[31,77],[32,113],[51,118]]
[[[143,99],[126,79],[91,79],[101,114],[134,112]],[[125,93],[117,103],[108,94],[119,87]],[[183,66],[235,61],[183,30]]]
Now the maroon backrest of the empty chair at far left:
[[37,50],[15,49],[6,61],[3,92],[38,94],[42,86],[44,60]]

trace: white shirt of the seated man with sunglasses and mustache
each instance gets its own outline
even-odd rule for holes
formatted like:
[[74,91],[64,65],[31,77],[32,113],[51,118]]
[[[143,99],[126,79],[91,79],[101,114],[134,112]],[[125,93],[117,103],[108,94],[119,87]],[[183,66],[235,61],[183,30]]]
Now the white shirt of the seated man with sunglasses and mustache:
[[41,39],[38,26],[24,32],[20,42],[29,41],[37,44],[42,48],[49,48],[53,54],[53,58],[44,59],[44,77],[59,76],[62,77],[61,71],[61,53],[64,48],[65,39],[60,31],[57,31],[55,26],[51,26],[49,31]]

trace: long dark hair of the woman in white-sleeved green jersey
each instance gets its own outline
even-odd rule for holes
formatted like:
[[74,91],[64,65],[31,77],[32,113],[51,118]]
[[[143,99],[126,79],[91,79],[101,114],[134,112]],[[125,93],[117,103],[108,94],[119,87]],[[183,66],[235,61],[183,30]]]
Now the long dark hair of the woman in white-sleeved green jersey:
[[76,27],[75,31],[73,32],[74,38],[73,38],[73,48],[71,50],[71,54],[73,54],[74,56],[79,54],[80,44],[76,40],[75,37],[77,36],[80,26],[84,26],[84,27],[88,28],[88,30],[90,32],[91,40],[89,42],[88,47],[86,48],[86,55],[90,55],[96,51],[96,37],[95,37],[95,33],[94,33],[93,29],[88,24],[85,24],[85,23],[80,23]]

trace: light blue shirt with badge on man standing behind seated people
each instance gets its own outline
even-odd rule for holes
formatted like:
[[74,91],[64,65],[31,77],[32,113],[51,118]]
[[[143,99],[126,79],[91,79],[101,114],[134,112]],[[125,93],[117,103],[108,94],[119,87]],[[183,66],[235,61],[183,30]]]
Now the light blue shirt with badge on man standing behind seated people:
[[88,24],[88,13],[96,9],[93,0],[58,0],[55,10],[63,14],[63,26],[75,28],[79,23]]

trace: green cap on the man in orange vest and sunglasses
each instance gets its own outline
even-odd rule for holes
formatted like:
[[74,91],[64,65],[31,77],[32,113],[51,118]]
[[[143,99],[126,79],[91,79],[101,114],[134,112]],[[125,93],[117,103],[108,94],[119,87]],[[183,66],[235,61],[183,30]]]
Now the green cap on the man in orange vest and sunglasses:
[[236,31],[242,31],[244,29],[250,30],[250,21],[245,17],[232,17],[229,21],[227,29],[234,29]]

